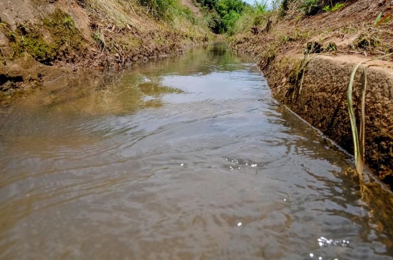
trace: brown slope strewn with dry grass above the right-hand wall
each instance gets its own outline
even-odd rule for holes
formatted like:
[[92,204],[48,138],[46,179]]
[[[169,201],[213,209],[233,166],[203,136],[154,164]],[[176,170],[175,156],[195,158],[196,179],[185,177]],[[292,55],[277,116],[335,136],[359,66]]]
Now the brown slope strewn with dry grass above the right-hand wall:
[[292,54],[302,55],[307,43],[313,41],[320,43],[328,55],[374,57],[393,52],[393,19],[387,19],[375,27],[380,12],[382,17],[392,13],[393,2],[350,1],[337,11],[309,17],[296,11],[298,5],[299,1],[290,3],[287,15],[274,23],[268,34],[251,36],[251,33],[243,33],[233,37],[232,42],[242,43],[235,48],[261,57],[266,56],[263,52],[271,46],[277,48],[277,53],[291,51]]

